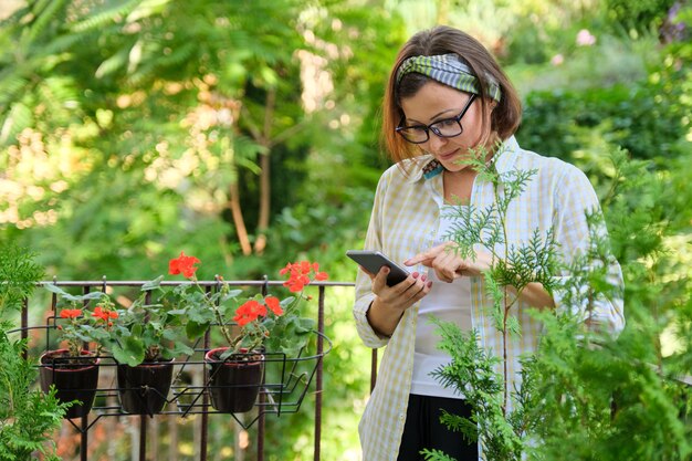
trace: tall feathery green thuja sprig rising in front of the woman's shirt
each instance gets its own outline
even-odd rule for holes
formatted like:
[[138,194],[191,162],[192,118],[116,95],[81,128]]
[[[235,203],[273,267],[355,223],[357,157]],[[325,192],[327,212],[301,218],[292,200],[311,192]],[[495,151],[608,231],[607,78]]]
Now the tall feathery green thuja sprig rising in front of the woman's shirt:
[[[490,156],[479,150],[464,161],[476,171],[479,182],[490,184],[493,188],[492,202],[483,207],[474,205],[450,207],[447,216],[452,219],[453,224],[445,240],[455,243],[451,249],[463,259],[475,261],[476,251],[481,249],[490,255],[490,268],[483,272],[483,279],[485,293],[492,301],[493,325],[501,334],[502,358],[481,354],[481,350],[471,344],[478,340],[475,336],[462,336],[455,342],[460,342],[458,347],[465,349],[466,353],[459,355],[460,349],[457,349],[457,354],[452,354],[453,364],[459,366],[450,368],[449,371],[459,375],[461,369],[465,369],[464,373],[475,374],[481,366],[493,368],[500,367],[502,363],[502,373],[494,376],[490,388],[486,386],[487,380],[483,383],[465,380],[461,381],[465,385],[460,384],[462,386],[460,389],[470,401],[475,402],[476,416],[473,425],[478,425],[480,432],[484,434],[485,452],[493,453],[489,459],[520,459],[521,434],[526,431],[528,422],[522,416],[521,408],[508,415],[511,394],[508,342],[511,335],[521,334],[518,319],[512,315],[512,310],[518,305],[521,296],[531,283],[539,283],[552,293],[557,283],[553,274],[557,273],[559,263],[558,245],[553,230],[546,232],[535,229],[528,240],[521,243],[513,243],[510,240],[507,221],[510,207],[526,190],[537,170],[511,170],[500,174],[495,166],[501,155],[500,148],[494,161],[487,161]],[[451,337],[449,332],[443,333],[444,335]],[[470,350],[474,352],[473,357],[469,357]],[[445,384],[452,383],[448,380]],[[516,391],[520,400],[523,398],[522,392],[523,388]],[[500,421],[505,421],[507,426]]]

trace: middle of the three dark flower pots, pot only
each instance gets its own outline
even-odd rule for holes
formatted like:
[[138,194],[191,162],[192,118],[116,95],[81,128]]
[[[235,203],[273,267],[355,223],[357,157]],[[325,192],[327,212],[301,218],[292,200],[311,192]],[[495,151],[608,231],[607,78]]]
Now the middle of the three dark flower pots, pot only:
[[136,367],[118,364],[118,397],[123,411],[132,415],[158,413],[167,402],[174,360],[144,363]]

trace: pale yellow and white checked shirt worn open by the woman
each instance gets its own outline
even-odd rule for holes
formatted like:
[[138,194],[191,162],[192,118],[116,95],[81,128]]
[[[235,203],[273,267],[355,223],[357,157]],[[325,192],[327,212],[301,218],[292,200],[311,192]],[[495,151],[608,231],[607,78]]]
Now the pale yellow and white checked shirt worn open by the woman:
[[[390,167],[381,176],[365,240],[366,249],[379,250],[399,263],[433,247],[440,222],[436,198],[439,201],[443,197],[442,167],[431,156],[407,161],[408,176],[398,166]],[[523,150],[514,137],[504,143],[494,161],[501,176],[512,170],[537,170],[507,210],[508,244],[521,245],[531,239],[535,229],[539,229],[542,234],[553,229],[562,256],[569,263],[579,249],[588,244],[585,211],[599,208],[588,178],[573,165],[557,158]],[[483,210],[493,202],[492,184],[476,178],[470,205]],[[411,269],[421,274],[428,272],[422,265]],[[615,268],[615,272],[617,280],[614,283],[621,285],[619,266]],[[502,334],[493,326],[490,316],[492,301],[484,291],[483,279],[471,277],[472,326],[479,332],[481,345],[490,354],[502,357]],[[420,303],[406,311],[391,337],[381,337],[366,318],[373,298],[370,279],[359,271],[354,305],[356,328],[366,346],[387,347],[358,432],[363,461],[396,461],[411,386]],[[554,301],[557,310],[579,310],[578,306],[564,305],[560,293],[554,294]],[[541,323],[527,314],[526,307],[528,305],[520,303],[512,310],[522,335],[511,335],[507,345],[510,389],[518,383],[520,356],[535,350],[541,334]],[[602,300],[589,315],[591,322],[614,332],[621,331],[625,325],[622,300]],[[497,373],[501,373],[501,366]]]

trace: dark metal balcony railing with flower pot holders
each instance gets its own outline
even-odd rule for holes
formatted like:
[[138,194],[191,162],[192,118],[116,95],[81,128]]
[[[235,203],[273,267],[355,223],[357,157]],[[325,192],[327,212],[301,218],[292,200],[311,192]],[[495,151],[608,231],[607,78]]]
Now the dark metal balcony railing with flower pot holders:
[[[116,287],[127,289],[127,287],[141,287],[145,281],[107,281],[104,277],[101,281],[57,281],[54,280],[52,282],[41,282],[40,285],[46,284],[55,284],[64,287],[72,287],[73,290],[80,289],[83,294],[87,294],[92,291],[98,290],[106,293],[108,290],[114,290]],[[186,284],[189,282],[161,282],[161,286],[176,286]],[[208,291],[216,290],[220,285],[220,281],[200,281],[198,282],[200,286],[205,287]],[[242,286],[242,287],[254,287],[259,290],[262,295],[266,295],[271,286],[283,285],[283,281],[270,281],[266,276],[263,280],[255,281],[223,281],[223,284],[228,284],[229,286]],[[249,423],[241,422],[239,418],[234,413],[228,413],[235,421],[241,423],[243,428],[249,428],[256,423],[256,451],[258,451],[258,461],[264,460],[264,439],[265,439],[265,430],[266,430],[266,416],[268,415],[276,415],[277,417],[281,413],[286,412],[296,412],[301,406],[301,402],[305,395],[307,394],[307,387],[314,380],[314,399],[315,399],[315,421],[314,421],[314,454],[313,459],[315,461],[319,461],[321,459],[321,439],[322,439],[322,392],[323,392],[323,358],[325,354],[329,352],[332,348],[332,342],[324,335],[324,313],[325,313],[325,300],[326,300],[326,290],[329,287],[336,286],[353,286],[353,283],[348,282],[313,282],[311,286],[314,286],[318,290],[317,296],[317,329],[315,333],[315,352],[306,354],[302,358],[297,359],[286,359],[285,356],[279,358],[270,358],[268,363],[276,362],[280,367],[285,369],[286,363],[289,362],[289,366],[296,366],[296,360],[314,360],[314,364],[311,364],[310,369],[305,371],[303,376],[303,381],[306,383],[305,388],[301,388],[298,390],[297,399],[294,401],[283,401],[283,386],[284,383],[279,386],[279,391],[276,391],[275,387],[272,385],[264,384],[262,390],[260,391],[259,400],[255,402],[256,407],[256,417],[252,419]],[[52,316],[49,316],[43,324],[40,325],[31,325],[29,322],[29,300],[25,300],[24,307],[21,312],[21,327],[14,329],[13,332],[21,332],[22,339],[27,339],[29,334],[33,329],[45,329],[45,345],[48,348],[48,344],[50,343],[50,332],[55,328],[55,317],[56,317],[56,306],[57,306],[57,295],[53,293],[51,295],[51,310]],[[52,325],[51,325],[52,321]],[[12,333],[12,332],[9,332]],[[210,349],[210,332],[208,331],[203,338],[201,339],[202,344],[196,344],[195,349],[197,353],[203,355],[205,352]],[[28,354],[28,352],[25,352]],[[112,357],[105,356],[102,357],[102,364],[106,366],[116,366],[117,364]],[[103,365],[99,365],[103,366]],[[181,367],[178,369],[178,375],[174,379],[174,386],[171,387],[171,394],[174,398],[168,400],[169,404],[175,402],[174,409],[167,409],[166,411],[160,411],[156,415],[128,415],[123,412],[118,406],[108,406],[108,405],[95,405],[92,408],[92,411],[83,418],[80,418],[78,423],[75,423],[73,420],[67,420],[72,423],[74,429],[80,433],[80,459],[81,461],[87,460],[87,444],[88,444],[88,432],[90,429],[94,426],[94,423],[101,418],[109,417],[109,416],[129,416],[132,418],[138,418],[139,422],[139,437],[138,437],[138,459],[139,461],[145,461],[147,459],[147,427],[149,423],[149,419],[156,418],[159,415],[178,415],[179,417],[186,417],[188,415],[199,415],[201,417],[201,425],[199,427],[199,460],[207,461],[208,459],[208,439],[209,439],[209,416],[217,411],[213,410],[209,402],[209,392],[207,386],[192,386],[192,385],[180,385],[176,386],[175,383],[177,378],[180,376],[180,373],[185,369],[185,367],[201,367],[203,368],[205,374],[205,383],[208,383],[208,374],[207,367],[202,365],[201,360],[186,360],[181,364]],[[371,378],[371,387],[375,384],[375,375],[377,367],[377,352],[373,350],[373,378]],[[293,375],[293,374],[291,374]],[[297,381],[300,379],[295,379],[294,381],[290,381],[285,384],[287,386],[286,392],[293,392]],[[112,387],[101,387],[97,389],[97,396],[101,397],[102,400],[108,400],[108,398],[113,398],[115,396],[115,391],[119,389]],[[279,392],[279,397],[276,398],[276,392]],[[186,404],[181,404],[181,397],[189,397],[186,400]],[[201,399],[201,402],[199,401]],[[90,418],[92,417],[92,418]]]

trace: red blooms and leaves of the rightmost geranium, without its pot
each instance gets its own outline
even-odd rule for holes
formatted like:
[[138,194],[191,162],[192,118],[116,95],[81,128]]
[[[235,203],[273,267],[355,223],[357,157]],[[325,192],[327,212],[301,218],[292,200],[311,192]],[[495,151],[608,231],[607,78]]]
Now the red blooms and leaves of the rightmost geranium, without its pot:
[[206,291],[196,276],[200,263],[199,259],[185,253],[169,263],[170,274],[182,274],[191,282],[176,290],[180,314],[188,318],[189,337],[198,336],[212,324],[218,325],[228,346],[221,359],[261,349],[293,356],[307,344],[315,322],[301,316],[300,305],[308,300],[304,295],[305,286],[313,280],[328,277],[319,271],[318,263],[289,263],[280,271],[281,275],[289,275],[284,286],[296,294],[283,300],[260,294],[244,298],[242,290],[231,290],[222,279],[216,292]]

